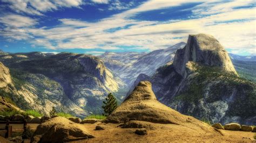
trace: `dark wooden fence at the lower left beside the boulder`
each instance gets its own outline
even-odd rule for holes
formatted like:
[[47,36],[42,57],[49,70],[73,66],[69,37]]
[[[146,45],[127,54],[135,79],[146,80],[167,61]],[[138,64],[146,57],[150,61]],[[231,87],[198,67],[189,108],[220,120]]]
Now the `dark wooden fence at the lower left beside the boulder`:
[[12,132],[12,126],[10,124],[23,124],[23,132],[26,132],[27,129],[27,124],[41,124],[42,122],[37,122],[37,121],[0,121],[0,124],[6,124],[5,129],[0,129],[0,131],[5,132],[5,138],[11,137],[11,132]]

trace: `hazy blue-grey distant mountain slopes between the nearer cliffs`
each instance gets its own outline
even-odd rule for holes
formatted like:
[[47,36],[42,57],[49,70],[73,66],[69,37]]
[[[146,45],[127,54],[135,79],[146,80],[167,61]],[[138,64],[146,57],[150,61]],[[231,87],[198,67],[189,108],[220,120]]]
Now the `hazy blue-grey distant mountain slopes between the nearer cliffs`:
[[159,49],[150,53],[106,52],[100,56],[107,68],[116,73],[129,87],[139,74],[153,75],[157,68],[172,61],[177,49],[183,48],[185,42],[180,42],[169,48]]

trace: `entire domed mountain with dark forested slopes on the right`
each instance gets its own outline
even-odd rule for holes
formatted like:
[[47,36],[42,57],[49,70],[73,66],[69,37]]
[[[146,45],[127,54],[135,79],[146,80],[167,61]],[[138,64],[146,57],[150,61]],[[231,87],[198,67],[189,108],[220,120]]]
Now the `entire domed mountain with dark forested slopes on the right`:
[[153,76],[139,75],[133,88],[144,80],[152,82],[161,103],[186,115],[214,123],[256,124],[256,83],[238,76],[227,52],[211,35],[190,35],[173,62]]

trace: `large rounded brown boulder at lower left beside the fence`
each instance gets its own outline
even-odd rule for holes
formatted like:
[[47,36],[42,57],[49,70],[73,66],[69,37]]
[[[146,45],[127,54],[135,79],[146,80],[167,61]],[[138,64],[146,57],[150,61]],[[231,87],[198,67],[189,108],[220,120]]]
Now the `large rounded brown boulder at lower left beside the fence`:
[[31,142],[68,142],[93,138],[83,125],[55,117],[37,126]]

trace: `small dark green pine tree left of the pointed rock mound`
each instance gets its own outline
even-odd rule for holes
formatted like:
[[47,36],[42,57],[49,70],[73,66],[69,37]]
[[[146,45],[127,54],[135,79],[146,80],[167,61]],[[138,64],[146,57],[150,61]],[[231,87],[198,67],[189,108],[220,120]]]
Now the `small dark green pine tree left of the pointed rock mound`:
[[104,109],[104,116],[109,116],[117,108],[117,99],[110,93],[103,101],[102,108]]

